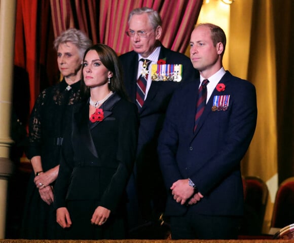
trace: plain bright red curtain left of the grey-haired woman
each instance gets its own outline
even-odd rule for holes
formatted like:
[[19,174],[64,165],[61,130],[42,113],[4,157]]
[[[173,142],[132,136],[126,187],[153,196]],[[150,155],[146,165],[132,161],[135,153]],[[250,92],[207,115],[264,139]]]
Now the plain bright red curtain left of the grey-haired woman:
[[38,0],[17,1],[14,64],[28,74],[30,100],[23,100],[23,104],[29,102],[30,110],[35,97],[52,84],[49,80],[58,70],[51,65],[56,62],[56,55],[51,55],[54,37],[49,4]]

